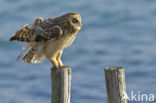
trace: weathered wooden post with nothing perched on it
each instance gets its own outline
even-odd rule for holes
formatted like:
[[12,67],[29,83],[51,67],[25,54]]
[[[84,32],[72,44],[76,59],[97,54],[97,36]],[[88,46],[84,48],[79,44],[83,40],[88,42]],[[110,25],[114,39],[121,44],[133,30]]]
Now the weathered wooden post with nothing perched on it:
[[106,67],[105,81],[108,103],[127,103],[124,68]]

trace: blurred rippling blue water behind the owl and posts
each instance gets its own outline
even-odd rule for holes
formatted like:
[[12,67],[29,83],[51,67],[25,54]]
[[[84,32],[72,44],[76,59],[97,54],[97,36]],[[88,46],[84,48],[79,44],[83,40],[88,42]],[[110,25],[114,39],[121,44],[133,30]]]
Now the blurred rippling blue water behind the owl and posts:
[[50,62],[16,62],[24,43],[8,39],[35,17],[71,11],[83,20],[62,56],[72,68],[71,103],[106,103],[108,66],[124,66],[128,95],[156,95],[156,0],[0,0],[0,103],[50,103]]

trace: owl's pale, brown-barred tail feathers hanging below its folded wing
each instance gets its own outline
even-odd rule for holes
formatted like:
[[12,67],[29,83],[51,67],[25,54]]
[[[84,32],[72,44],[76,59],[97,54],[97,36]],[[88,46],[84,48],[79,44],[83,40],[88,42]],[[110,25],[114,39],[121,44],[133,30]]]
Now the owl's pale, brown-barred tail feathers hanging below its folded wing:
[[22,61],[29,63],[40,63],[45,58],[42,45],[32,47],[29,52],[23,57]]

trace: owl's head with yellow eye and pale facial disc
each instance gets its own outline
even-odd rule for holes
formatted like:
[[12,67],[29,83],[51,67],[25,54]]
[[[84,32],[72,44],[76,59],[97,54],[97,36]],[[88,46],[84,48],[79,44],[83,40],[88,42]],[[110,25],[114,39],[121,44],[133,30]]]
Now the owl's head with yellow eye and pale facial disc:
[[70,25],[73,26],[75,29],[80,30],[82,27],[81,16],[78,13],[71,12],[65,14],[67,20],[69,21]]

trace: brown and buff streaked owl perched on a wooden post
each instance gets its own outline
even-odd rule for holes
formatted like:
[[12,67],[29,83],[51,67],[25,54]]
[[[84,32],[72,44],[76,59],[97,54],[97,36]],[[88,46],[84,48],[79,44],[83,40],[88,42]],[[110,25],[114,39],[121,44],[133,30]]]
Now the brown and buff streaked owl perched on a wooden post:
[[18,60],[25,63],[40,63],[49,59],[54,68],[63,66],[61,55],[70,46],[82,27],[81,16],[70,12],[48,19],[35,18],[15,32],[9,41],[26,42]]

